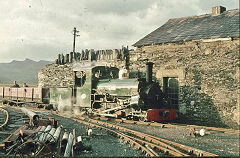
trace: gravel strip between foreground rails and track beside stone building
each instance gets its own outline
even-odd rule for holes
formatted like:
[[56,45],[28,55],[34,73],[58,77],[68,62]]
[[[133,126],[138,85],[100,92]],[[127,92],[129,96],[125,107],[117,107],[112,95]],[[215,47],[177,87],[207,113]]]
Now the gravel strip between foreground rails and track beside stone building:
[[239,134],[209,131],[205,136],[189,136],[189,129],[185,127],[161,128],[147,125],[120,124],[133,130],[165,138],[180,144],[191,146],[219,156],[239,156]]

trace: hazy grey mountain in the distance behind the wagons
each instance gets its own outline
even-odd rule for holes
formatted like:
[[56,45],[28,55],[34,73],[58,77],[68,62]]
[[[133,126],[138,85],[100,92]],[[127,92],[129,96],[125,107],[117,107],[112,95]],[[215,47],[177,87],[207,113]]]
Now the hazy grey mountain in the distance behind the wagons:
[[0,83],[37,83],[38,70],[51,61],[34,61],[25,59],[24,61],[13,60],[10,63],[0,63]]

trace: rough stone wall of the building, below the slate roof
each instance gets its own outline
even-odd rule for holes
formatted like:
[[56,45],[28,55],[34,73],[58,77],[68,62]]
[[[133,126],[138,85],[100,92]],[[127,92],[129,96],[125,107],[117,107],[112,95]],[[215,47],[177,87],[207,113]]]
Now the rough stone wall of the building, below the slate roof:
[[130,71],[178,77],[179,111],[194,124],[239,127],[239,39],[169,43],[138,48],[130,54]]

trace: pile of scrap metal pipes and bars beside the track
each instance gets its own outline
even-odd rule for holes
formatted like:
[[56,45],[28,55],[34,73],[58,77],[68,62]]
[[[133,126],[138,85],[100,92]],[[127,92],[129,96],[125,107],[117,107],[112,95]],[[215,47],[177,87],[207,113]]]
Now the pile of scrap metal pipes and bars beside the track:
[[74,156],[83,150],[90,150],[82,143],[82,137],[76,136],[75,129],[66,132],[58,120],[40,119],[26,109],[22,111],[29,116],[29,125],[22,125],[4,140],[3,150],[11,156]]

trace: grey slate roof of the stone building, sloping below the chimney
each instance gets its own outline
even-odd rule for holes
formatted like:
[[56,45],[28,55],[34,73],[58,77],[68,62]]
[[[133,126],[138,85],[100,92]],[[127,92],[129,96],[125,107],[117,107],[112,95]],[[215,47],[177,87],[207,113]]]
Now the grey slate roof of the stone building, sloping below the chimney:
[[239,9],[211,14],[169,19],[164,25],[137,41],[133,46],[239,37]]

